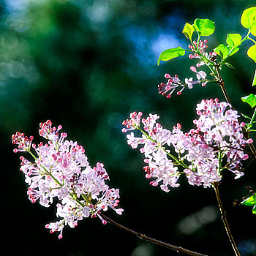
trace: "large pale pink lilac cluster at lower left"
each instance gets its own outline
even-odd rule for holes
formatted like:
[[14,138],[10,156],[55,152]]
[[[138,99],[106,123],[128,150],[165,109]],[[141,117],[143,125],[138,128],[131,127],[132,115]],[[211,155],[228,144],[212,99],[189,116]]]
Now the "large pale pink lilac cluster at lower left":
[[77,142],[66,140],[67,133],[59,135],[58,128],[52,127],[50,120],[40,124],[39,135],[48,143],[32,144],[33,137],[26,137],[16,132],[12,135],[12,143],[18,148],[14,152],[26,151],[34,161],[24,157],[20,170],[23,171],[26,183],[29,184],[29,200],[39,200],[42,206],[49,207],[56,197],[56,216],[60,219],[45,227],[50,233],[62,232],[65,225],[75,227],[78,220],[86,217],[99,217],[103,224],[107,222],[99,215],[99,211],[107,211],[108,207],[121,214],[123,209],[116,208],[119,203],[119,189],[110,189],[105,181],[109,179],[102,163],[96,167],[89,165],[83,146]]

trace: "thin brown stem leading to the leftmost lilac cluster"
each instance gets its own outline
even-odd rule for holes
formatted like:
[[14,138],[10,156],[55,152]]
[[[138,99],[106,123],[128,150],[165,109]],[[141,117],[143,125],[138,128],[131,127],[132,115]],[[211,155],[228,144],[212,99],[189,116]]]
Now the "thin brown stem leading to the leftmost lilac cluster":
[[143,235],[142,233],[138,233],[137,231],[134,231],[134,230],[131,230],[129,229],[128,227],[124,227],[123,225],[113,221],[112,219],[106,217],[104,214],[102,213],[99,213],[99,215],[105,219],[107,222],[109,222],[110,224],[112,225],[115,225],[116,227],[120,228],[121,230],[124,230],[124,231],[127,231],[129,233],[132,233],[134,234],[135,236],[137,236],[138,238],[141,238],[143,240],[146,240],[146,241],[149,241],[151,243],[154,243],[154,244],[158,244],[160,246],[164,246],[164,247],[167,247],[169,249],[173,249],[173,250],[176,250],[177,252],[183,252],[184,254],[187,254],[187,255],[194,255],[194,256],[207,256],[207,255],[202,255],[198,252],[192,252],[188,249],[184,249],[182,248],[181,246],[174,246],[174,245],[171,245],[171,244],[167,244],[167,243],[164,243],[162,241],[159,241],[157,239],[154,239],[154,238],[151,238],[149,236],[146,236],[146,235]]

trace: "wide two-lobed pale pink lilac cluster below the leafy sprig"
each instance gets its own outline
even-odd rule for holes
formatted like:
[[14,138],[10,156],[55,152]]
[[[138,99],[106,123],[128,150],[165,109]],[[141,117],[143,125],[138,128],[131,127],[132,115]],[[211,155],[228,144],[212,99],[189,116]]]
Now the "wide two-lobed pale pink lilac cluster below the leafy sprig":
[[[181,124],[173,130],[164,129],[157,123],[159,116],[149,114],[143,118],[143,129],[140,128],[142,113],[131,113],[130,119],[123,124],[127,127],[123,132],[139,129],[141,137],[131,132],[127,135],[127,143],[132,148],[142,144],[140,152],[146,157],[144,167],[146,178],[154,178],[151,185],[169,192],[169,187],[178,187],[181,173],[187,176],[191,185],[211,187],[222,178],[222,170],[233,172],[235,178],[244,175],[241,161],[248,158],[244,147],[252,143],[252,139],[244,140],[242,127],[238,123],[238,113],[226,102],[218,99],[202,100],[197,104],[197,115],[194,120],[196,129],[181,131]],[[177,154],[174,156],[173,151]],[[178,170],[181,166],[183,170]]]

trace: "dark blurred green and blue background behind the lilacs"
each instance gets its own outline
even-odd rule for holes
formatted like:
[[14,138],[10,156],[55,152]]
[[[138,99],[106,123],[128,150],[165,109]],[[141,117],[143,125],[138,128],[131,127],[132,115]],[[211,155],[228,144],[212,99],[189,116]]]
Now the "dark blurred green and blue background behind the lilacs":
[[[241,13],[255,0],[5,0],[0,4],[0,134],[2,250],[7,255],[178,255],[140,240],[99,219],[84,219],[64,230],[60,241],[45,224],[56,220],[55,206],[32,204],[19,171],[20,154],[13,154],[11,135],[34,135],[39,143],[39,122],[61,124],[69,140],[77,140],[94,166],[104,163],[110,187],[121,192],[124,214],[106,215],[127,227],[176,246],[208,255],[233,251],[219,217],[213,189],[181,186],[162,192],[151,187],[143,173],[143,156],[127,145],[121,122],[129,113],[157,113],[160,123],[184,130],[192,127],[195,106],[201,99],[224,97],[215,84],[195,86],[166,99],[157,84],[166,72],[192,76],[187,56],[161,63],[162,50],[188,40],[181,33],[186,22],[209,18],[217,30],[209,48],[225,43],[227,33],[246,35]],[[223,78],[234,108],[252,116],[241,97],[252,93],[255,63],[246,56],[252,42],[230,58],[236,69],[224,68]],[[227,220],[241,255],[256,255],[256,217],[251,208],[233,206],[256,188],[255,163],[234,180],[225,172],[220,187]],[[7,252],[7,251],[5,251]]]

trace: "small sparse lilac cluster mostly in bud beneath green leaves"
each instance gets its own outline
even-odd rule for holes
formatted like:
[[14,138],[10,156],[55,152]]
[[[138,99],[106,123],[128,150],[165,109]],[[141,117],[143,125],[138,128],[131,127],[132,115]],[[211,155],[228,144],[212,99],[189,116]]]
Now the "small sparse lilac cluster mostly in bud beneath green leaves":
[[[194,41],[193,45],[189,45],[189,49],[195,52],[194,54],[189,54],[189,59],[199,59],[199,62],[196,64],[197,67],[208,64],[207,62],[211,61],[212,56],[217,55],[215,52],[206,52],[206,48],[208,48],[207,42],[207,40],[200,40],[198,44]],[[170,98],[176,89],[179,89],[179,91],[177,91],[177,95],[181,95],[181,92],[184,91],[186,86],[189,89],[192,89],[195,84],[206,86],[206,83],[208,83],[208,80],[206,80],[206,72],[203,70],[197,72],[197,69],[194,66],[190,67],[190,69],[192,72],[196,73],[197,80],[193,80],[193,78],[185,78],[184,82],[181,82],[181,80],[178,78],[178,75],[174,75],[172,77],[170,74],[165,74],[165,78],[168,80],[167,83],[160,83],[158,85],[159,94]]]

